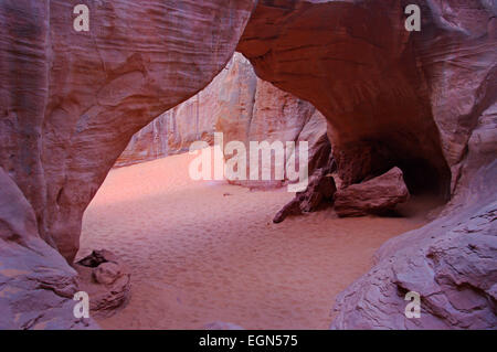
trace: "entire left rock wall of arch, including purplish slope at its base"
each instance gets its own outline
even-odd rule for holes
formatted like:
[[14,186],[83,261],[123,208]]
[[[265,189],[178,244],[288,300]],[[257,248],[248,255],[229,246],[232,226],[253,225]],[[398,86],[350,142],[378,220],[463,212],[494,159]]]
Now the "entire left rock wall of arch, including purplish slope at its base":
[[76,32],[78,3],[0,2],[2,329],[76,326],[84,210],[131,136],[226,65],[254,7],[92,1]]

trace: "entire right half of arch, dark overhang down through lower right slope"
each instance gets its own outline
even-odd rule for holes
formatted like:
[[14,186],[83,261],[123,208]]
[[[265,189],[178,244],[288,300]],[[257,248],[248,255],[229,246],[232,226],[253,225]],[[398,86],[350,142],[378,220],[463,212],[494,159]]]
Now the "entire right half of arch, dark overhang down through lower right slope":
[[[411,3],[421,32],[404,28]],[[237,50],[325,115],[343,188],[399,167],[412,193],[452,195],[383,246],[332,328],[497,327],[496,14],[486,0],[258,2]],[[411,290],[421,319],[404,316]]]

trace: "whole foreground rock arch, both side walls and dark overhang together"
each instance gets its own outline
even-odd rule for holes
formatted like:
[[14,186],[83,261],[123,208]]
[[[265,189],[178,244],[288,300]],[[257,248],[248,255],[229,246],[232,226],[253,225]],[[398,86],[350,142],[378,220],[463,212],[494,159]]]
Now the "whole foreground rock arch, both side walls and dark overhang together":
[[[495,1],[91,1],[87,33],[77,3],[0,2],[0,328],[94,327],[73,318],[67,264],[86,206],[131,136],[235,50],[322,113],[345,184],[398,166],[450,199],[380,248],[331,328],[496,328]],[[411,290],[421,319],[401,313]]]

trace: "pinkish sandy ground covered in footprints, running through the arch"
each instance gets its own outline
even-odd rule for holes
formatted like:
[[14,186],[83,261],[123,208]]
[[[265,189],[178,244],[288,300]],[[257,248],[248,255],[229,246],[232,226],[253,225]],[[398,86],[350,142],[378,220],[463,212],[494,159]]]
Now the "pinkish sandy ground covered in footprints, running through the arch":
[[376,249],[425,223],[414,204],[410,217],[321,211],[275,225],[292,193],[191,181],[192,158],[114,170],[86,211],[80,257],[107,248],[133,270],[131,300],[104,329],[327,329]]

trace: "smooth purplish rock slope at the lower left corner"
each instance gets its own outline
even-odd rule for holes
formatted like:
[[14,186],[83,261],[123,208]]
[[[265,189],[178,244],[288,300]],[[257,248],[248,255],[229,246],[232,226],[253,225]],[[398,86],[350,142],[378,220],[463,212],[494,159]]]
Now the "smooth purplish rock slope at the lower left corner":
[[0,329],[98,329],[73,314],[76,271],[39,235],[31,204],[0,168]]

